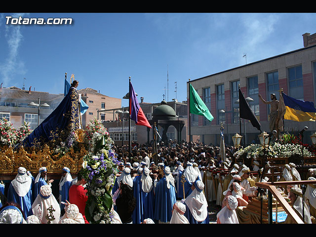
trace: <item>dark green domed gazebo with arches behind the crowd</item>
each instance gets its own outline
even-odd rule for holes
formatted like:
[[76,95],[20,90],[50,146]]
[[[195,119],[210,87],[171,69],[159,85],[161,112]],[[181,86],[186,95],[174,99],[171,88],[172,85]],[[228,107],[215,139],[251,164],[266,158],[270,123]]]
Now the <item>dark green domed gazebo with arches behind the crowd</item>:
[[185,124],[185,121],[179,120],[179,117],[176,115],[174,109],[167,105],[167,102],[164,100],[161,101],[161,104],[153,111],[152,119],[149,120],[149,123],[154,128],[154,123],[156,126],[159,125],[163,128],[161,140],[167,144],[167,130],[170,125],[173,125],[178,133],[178,143],[181,142],[181,131]]

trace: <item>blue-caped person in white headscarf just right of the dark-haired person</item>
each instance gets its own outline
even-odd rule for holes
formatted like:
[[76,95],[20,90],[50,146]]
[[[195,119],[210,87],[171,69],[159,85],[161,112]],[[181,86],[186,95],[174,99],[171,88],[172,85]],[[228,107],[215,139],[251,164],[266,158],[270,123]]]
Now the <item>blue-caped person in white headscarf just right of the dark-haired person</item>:
[[133,180],[136,207],[133,211],[133,224],[141,224],[145,219],[154,219],[155,195],[150,169],[145,167],[142,174]]

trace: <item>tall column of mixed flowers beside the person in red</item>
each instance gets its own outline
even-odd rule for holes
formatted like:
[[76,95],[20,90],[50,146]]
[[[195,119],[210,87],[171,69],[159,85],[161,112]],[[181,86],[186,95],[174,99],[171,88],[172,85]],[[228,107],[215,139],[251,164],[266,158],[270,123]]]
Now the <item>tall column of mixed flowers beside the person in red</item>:
[[118,167],[118,160],[111,150],[113,141],[96,119],[86,126],[83,141],[88,145],[88,154],[82,163],[88,196],[85,216],[92,224],[109,224],[113,218],[111,191]]

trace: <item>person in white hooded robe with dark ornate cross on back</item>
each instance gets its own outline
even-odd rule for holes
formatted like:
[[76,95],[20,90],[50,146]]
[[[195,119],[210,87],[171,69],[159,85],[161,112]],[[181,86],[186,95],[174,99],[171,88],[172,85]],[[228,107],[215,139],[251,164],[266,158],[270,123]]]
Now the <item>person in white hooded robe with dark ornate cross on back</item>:
[[[42,185],[40,193],[32,205],[33,214],[42,224],[58,224],[60,219],[60,205],[57,202],[49,185]],[[47,220],[48,218],[48,220]]]

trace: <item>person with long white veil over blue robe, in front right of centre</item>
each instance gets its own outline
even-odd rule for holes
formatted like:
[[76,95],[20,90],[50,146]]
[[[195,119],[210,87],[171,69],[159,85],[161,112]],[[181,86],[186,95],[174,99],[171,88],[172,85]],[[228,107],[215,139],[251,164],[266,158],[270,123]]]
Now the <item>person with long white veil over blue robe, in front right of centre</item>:
[[186,205],[184,216],[190,224],[209,224],[208,204],[203,189],[203,182],[195,181],[192,185],[192,193],[184,200]]

